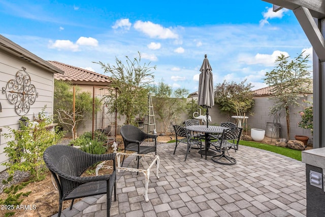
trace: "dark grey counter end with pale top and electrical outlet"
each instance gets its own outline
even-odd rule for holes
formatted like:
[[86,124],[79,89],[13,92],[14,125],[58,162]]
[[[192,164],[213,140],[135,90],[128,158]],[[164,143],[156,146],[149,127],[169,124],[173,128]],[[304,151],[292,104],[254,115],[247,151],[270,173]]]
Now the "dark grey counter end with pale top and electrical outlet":
[[302,162],[306,164],[306,216],[324,216],[325,148],[303,151]]

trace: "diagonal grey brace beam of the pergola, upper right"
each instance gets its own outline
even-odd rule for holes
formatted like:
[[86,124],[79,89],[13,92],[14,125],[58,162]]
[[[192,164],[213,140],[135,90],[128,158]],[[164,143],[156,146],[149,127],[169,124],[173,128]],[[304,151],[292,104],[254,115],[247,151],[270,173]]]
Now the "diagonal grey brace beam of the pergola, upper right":
[[294,10],[297,20],[303,28],[310,44],[315,50],[320,62],[325,61],[325,40],[309,10],[299,7]]

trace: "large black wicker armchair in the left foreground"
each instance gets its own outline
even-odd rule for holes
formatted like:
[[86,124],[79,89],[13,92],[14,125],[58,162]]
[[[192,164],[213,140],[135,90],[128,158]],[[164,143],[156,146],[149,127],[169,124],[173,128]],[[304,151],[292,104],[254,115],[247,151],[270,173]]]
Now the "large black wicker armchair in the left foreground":
[[[44,152],[44,161],[51,171],[59,191],[59,211],[61,215],[64,200],[88,197],[93,195],[107,195],[107,216],[110,216],[112,193],[116,201],[116,154],[93,155],[71,146],[55,145]],[[112,160],[113,172],[108,175],[81,177],[81,174],[96,162]]]

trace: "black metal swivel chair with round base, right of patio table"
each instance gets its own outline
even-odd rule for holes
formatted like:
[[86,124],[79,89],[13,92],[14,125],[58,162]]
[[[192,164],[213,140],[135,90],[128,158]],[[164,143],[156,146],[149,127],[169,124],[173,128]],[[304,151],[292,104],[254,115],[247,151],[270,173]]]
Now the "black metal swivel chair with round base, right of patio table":
[[242,134],[243,128],[233,127],[224,129],[221,138],[217,141],[209,141],[210,149],[221,153],[220,155],[215,155],[212,157],[212,161],[224,164],[224,165],[234,165],[236,164],[236,159],[231,157],[228,150],[235,149],[238,150],[238,143]]

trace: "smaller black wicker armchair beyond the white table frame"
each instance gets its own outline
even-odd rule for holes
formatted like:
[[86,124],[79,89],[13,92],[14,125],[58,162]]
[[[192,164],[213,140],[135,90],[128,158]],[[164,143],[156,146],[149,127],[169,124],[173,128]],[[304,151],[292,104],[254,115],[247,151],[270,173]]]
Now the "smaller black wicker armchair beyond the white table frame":
[[[155,155],[157,155],[157,135],[148,134],[140,130],[138,127],[132,126],[132,125],[124,125],[120,129],[120,134],[123,138],[124,143],[124,152],[126,151],[132,151],[137,152],[138,154],[148,154],[150,152],[154,152]],[[152,138],[154,139],[154,145],[141,145],[141,143],[148,139]],[[123,155],[123,161],[122,166],[124,163],[124,155]],[[138,158],[138,169],[139,169],[139,161],[140,157]]]

